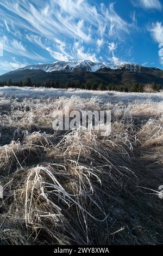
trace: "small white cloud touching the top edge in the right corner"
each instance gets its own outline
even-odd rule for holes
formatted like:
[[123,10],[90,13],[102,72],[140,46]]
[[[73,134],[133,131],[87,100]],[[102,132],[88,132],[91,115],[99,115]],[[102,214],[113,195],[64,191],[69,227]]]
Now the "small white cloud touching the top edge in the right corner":
[[161,10],[162,4],[159,0],[131,0],[134,6],[142,7],[144,9]]

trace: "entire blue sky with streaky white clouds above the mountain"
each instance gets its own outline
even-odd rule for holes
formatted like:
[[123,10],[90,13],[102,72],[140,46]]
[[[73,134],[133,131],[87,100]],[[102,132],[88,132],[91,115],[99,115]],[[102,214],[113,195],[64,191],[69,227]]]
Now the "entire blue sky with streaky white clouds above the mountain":
[[163,69],[163,0],[0,2],[0,75],[78,59]]

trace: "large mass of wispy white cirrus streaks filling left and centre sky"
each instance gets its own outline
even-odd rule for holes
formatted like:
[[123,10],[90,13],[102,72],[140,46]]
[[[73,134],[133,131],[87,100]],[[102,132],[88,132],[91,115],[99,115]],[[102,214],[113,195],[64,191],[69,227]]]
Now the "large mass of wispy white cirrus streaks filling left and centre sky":
[[5,0],[0,2],[0,10],[7,38],[4,50],[37,62],[47,62],[45,52],[58,61],[99,61],[104,45],[113,39],[124,40],[136,29],[135,15],[129,17],[130,22],[122,19],[114,3]]

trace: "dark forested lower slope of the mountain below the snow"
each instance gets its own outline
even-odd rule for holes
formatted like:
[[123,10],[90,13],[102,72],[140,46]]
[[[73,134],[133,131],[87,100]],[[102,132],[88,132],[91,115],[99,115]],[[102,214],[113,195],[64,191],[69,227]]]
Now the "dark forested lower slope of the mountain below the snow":
[[33,82],[46,82],[59,80],[62,83],[81,81],[86,82],[97,82],[108,85],[124,85],[130,86],[133,81],[141,84],[150,84],[155,82],[156,84],[163,85],[163,71],[162,70],[147,70],[145,72],[129,72],[126,70],[119,69],[99,69],[97,72],[45,72],[43,70],[18,70],[10,72],[0,76],[0,81],[25,81],[30,78]]

